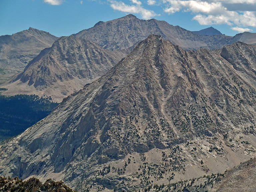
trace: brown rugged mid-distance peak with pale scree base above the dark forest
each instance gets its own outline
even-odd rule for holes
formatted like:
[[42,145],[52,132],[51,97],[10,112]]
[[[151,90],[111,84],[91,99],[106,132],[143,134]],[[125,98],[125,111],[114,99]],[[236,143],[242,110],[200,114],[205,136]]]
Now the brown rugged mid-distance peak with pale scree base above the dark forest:
[[8,89],[2,94],[47,95],[61,102],[104,75],[124,56],[85,39],[61,37],[42,50],[14,80],[1,85]]

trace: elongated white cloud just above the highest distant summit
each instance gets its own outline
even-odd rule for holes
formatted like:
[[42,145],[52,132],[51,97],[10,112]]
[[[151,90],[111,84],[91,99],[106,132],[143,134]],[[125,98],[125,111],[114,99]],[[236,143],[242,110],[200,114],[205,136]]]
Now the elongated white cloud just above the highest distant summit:
[[[132,2],[134,3],[136,0],[132,0]],[[154,11],[148,10],[143,8],[140,4],[135,3],[136,5],[127,5],[122,1],[113,1],[110,0],[110,6],[114,9],[114,10],[118,10],[118,11],[122,11],[125,13],[138,13],[141,15],[141,17],[143,19],[150,19],[154,16],[157,16],[158,14],[156,14]]]

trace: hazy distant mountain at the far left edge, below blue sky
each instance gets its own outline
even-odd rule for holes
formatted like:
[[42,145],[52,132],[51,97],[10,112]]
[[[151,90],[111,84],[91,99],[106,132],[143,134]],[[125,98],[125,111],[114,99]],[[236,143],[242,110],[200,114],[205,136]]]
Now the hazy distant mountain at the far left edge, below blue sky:
[[23,71],[40,51],[51,47],[58,37],[29,28],[13,35],[0,36],[0,83]]

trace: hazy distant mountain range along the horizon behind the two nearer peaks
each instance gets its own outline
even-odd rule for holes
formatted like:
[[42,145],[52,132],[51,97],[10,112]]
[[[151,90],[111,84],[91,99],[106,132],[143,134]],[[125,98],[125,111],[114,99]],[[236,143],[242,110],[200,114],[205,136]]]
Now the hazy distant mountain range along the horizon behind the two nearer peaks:
[[[129,53],[139,41],[150,34],[161,35],[185,50],[219,49],[236,41],[256,44],[255,33],[244,32],[230,37],[212,27],[191,32],[165,21],[141,20],[132,14],[107,22],[100,21],[94,27],[82,30],[74,36],[97,42],[104,49]],[[0,83],[23,71],[41,50],[51,47],[57,39],[58,37],[48,32],[31,27],[13,35],[0,36]]]

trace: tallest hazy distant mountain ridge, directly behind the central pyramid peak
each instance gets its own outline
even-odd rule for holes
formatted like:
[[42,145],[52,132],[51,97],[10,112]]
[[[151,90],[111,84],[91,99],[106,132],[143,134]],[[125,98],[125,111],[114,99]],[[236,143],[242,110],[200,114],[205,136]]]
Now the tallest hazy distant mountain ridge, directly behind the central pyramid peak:
[[[208,28],[202,31],[202,33],[209,36],[199,35],[179,26],[170,25],[165,21],[158,21],[156,19],[141,20],[130,14],[107,22],[100,21],[94,27],[82,30],[74,35],[98,42],[103,48],[110,50],[134,48],[134,45],[137,45],[139,41],[144,40],[150,34],[161,35],[165,40],[169,40],[185,50],[197,50],[200,48],[219,49],[236,41],[250,44],[256,43],[254,33],[250,33],[253,41],[249,42],[247,38],[243,38],[244,35],[233,38],[221,33],[219,34],[217,30],[213,29]],[[218,34],[216,35],[216,33]]]

